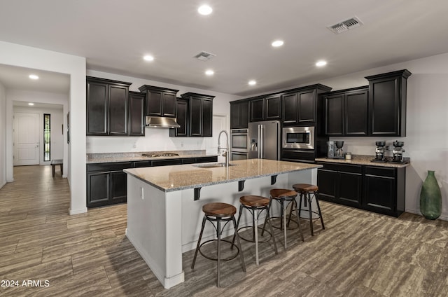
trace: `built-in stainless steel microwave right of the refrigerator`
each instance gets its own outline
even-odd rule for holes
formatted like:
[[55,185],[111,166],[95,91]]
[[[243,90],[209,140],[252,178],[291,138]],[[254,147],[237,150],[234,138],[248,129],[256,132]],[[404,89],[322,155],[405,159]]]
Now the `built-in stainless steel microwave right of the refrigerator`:
[[314,149],[314,127],[283,127],[283,148]]

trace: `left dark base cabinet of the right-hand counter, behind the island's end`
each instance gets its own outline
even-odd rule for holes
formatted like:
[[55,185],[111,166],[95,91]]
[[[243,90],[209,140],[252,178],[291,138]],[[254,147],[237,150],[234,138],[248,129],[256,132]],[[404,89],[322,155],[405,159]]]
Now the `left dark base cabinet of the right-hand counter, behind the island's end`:
[[323,164],[318,169],[319,198],[342,205],[361,207],[363,169],[361,165]]

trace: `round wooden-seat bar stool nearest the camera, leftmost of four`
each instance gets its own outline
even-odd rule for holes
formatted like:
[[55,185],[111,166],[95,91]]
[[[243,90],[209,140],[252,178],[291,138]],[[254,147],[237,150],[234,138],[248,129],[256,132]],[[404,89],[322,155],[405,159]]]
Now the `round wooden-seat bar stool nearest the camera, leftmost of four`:
[[[193,258],[193,264],[191,265],[191,269],[195,269],[195,262],[196,262],[196,257],[197,257],[198,251],[205,258],[208,258],[209,260],[217,261],[218,262],[218,268],[217,268],[218,272],[217,272],[217,277],[216,277],[216,286],[221,286],[221,283],[220,283],[221,261],[232,260],[233,258],[236,258],[239,254],[239,258],[241,260],[241,265],[243,267],[243,271],[246,272],[246,265],[244,264],[243,251],[241,250],[241,243],[239,242],[239,236],[238,236],[238,232],[237,232],[237,222],[235,220],[235,214],[237,213],[237,208],[235,206],[227,204],[227,203],[212,202],[212,203],[207,203],[206,205],[203,205],[202,212],[204,212],[204,219],[202,219],[201,233],[199,235],[199,240],[197,240],[197,247],[196,247],[196,251],[195,251],[195,256]],[[216,236],[218,238],[214,239],[214,240],[207,240],[205,242],[202,242],[202,244],[201,244],[202,234],[204,233],[204,226],[205,226],[206,221],[211,222],[211,224],[214,226],[214,228],[216,229]],[[221,239],[221,235],[223,234],[223,229],[230,221],[233,222],[233,227],[235,228],[235,236],[237,238],[237,246],[236,247],[237,247],[238,251],[236,254],[229,256],[228,258],[221,259],[221,242],[222,241],[229,242],[230,244],[232,244],[232,247],[235,246],[235,244],[233,242],[230,242],[229,240]],[[216,226],[213,222],[216,222]],[[221,228],[221,222],[225,222],[225,224],[224,224],[224,226],[222,226],[222,228]],[[216,251],[216,258],[211,258],[209,256],[206,256],[201,251],[201,247],[204,244],[207,244],[208,242],[213,242],[213,241],[217,241],[217,244],[218,244],[218,248],[217,248],[218,250]]]

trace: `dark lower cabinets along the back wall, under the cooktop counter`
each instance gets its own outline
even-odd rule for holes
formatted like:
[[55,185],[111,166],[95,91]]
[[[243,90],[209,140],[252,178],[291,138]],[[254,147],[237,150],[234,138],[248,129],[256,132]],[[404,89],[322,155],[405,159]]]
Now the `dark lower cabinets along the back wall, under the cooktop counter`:
[[217,156],[87,164],[87,207],[127,202],[126,168],[217,162]]

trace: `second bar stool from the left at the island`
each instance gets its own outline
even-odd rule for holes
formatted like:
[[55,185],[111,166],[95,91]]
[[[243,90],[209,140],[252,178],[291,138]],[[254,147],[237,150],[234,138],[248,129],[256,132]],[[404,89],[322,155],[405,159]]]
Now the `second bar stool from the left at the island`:
[[[269,224],[269,229],[271,230],[271,233],[269,233],[270,237],[267,240],[263,240],[261,242],[268,242],[271,238],[272,238],[272,242],[274,242],[274,251],[275,254],[279,254],[279,252],[277,251],[277,244],[275,242],[275,237],[274,237],[274,231],[272,230],[272,224],[270,221],[270,217],[269,217],[269,199],[262,197],[262,196],[256,196],[256,195],[246,195],[246,196],[241,196],[239,198],[239,202],[241,202],[241,205],[239,205],[239,216],[238,216],[238,221],[237,221],[237,229],[242,230],[242,229],[246,229],[246,228],[252,228],[252,239],[248,239],[245,237],[242,237],[241,235],[239,235],[239,237],[241,238],[241,240],[246,240],[248,242],[255,242],[255,264],[259,265],[259,259],[258,259],[258,242],[260,242],[258,240],[258,218],[260,217],[260,214],[262,214],[263,211],[266,212],[266,219],[265,222],[267,222]],[[249,212],[251,212],[252,214],[252,226],[244,226],[241,228],[238,228],[239,226],[239,221],[241,221],[241,214],[243,212],[243,209],[248,209]],[[262,232],[265,231],[265,224],[263,224],[263,228]],[[235,236],[237,235],[237,233],[235,233],[235,235],[233,235],[233,241],[235,242]],[[232,246],[233,247],[233,246]]]

